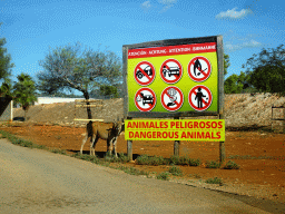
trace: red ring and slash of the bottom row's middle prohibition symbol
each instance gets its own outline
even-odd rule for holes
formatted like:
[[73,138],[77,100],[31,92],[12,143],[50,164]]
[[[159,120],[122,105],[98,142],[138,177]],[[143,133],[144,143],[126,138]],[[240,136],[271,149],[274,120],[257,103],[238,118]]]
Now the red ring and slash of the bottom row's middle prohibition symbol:
[[[175,100],[175,101],[171,101],[171,97],[173,97],[173,96],[168,94],[168,90],[169,90],[170,88],[175,89],[175,90],[178,93],[178,95],[179,95],[179,97],[180,97],[180,101],[179,101],[179,103],[177,103],[176,100]],[[175,106],[174,108],[170,108],[170,104],[171,104],[171,103],[165,104],[165,101],[166,101],[165,98],[166,98],[166,97],[168,97],[173,104],[176,104],[176,106]],[[173,97],[173,98],[174,98],[174,97]],[[181,91],[178,87],[176,87],[176,86],[168,86],[167,88],[165,88],[165,89],[163,90],[161,96],[160,96],[160,101],[161,101],[161,104],[163,104],[163,106],[164,106],[164,108],[165,108],[166,110],[176,111],[176,110],[178,110],[178,109],[183,106],[183,103],[184,103],[184,95],[183,95],[183,91]],[[171,105],[173,105],[173,104],[171,104]]]

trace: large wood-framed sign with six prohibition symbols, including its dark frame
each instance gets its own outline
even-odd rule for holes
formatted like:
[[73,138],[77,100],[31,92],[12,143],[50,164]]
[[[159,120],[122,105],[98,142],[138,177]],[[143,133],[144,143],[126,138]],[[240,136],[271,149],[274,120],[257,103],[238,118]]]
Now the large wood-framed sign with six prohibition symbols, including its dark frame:
[[[125,45],[125,116],[178,118],[181,115],[193,117],[222,114],[223,51],[222,36]],[[191,93],[193,100],[189,100],[189,91],[196,86],[202,86],[200,93],[196,88]],[[208,90],[203,88],[204,86]],[[145,97],[142,100],[144,91],[144,96],[137,94],[141,88],[150,88],[154,91],[145,93],[154,97],[154,100],[156,96],[155,106],[151,97]]]

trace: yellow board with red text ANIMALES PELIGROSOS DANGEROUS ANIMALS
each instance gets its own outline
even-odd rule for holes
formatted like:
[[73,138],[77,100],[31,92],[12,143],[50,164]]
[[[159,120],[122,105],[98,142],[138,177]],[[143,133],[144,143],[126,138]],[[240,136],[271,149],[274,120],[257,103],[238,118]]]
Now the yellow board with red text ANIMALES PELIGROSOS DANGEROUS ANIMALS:
[[126,140],[225,142],[224,119],[125,120]]

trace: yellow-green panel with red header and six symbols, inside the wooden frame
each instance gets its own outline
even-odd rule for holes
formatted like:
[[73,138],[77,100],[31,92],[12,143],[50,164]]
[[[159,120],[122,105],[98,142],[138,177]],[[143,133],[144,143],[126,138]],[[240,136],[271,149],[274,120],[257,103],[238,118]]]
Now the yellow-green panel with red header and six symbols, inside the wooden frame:
[[217,43],[128,50],[128,110],[218,111]]

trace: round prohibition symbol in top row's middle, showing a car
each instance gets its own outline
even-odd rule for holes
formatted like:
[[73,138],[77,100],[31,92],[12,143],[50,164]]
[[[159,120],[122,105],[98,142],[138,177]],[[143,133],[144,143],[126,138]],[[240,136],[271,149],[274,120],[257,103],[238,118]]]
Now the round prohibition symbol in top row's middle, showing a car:
[[[173,62],[176,64],[177,66],[175,67],[169,67],[167,64]],[[166,67],[166,69],[164,69]],[[175,78],[173,78],[174,76]],[[163,62],[160,66],[160,77],[166,84],[176,84],[177,81],[180,80],[183,76],[183,66],[181,64],[176,60],[176,59],[167,59]],[[168,78],[167,78],[168,77]],[[170,78],[170,79],[169,79]]]

